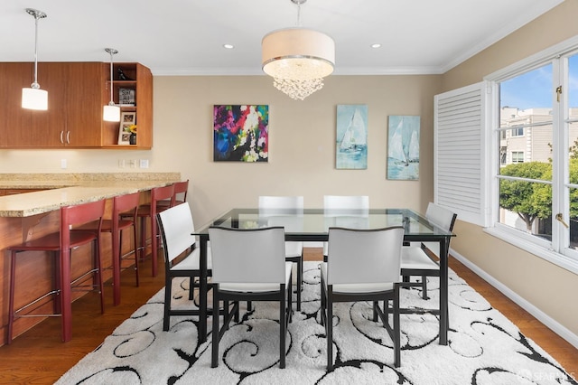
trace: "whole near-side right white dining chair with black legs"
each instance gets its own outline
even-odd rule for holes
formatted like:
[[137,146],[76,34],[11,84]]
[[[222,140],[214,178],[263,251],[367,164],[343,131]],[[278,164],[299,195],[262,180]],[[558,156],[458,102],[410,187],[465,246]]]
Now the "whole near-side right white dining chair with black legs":
[[[401,226],[374,230],[329,229],[329,256],[321,264],[322,324],[327,337],[327,370],[333,370],[333,303],[370,301],[373,322],[381,319],[401,364],[399,326]],[[355,258],[352,258],[352,257]],[[383,311],[378,301],[384,302]],[[389,307],[393,301],[393,307]],[[393,314],[393,327],[388,315]]]

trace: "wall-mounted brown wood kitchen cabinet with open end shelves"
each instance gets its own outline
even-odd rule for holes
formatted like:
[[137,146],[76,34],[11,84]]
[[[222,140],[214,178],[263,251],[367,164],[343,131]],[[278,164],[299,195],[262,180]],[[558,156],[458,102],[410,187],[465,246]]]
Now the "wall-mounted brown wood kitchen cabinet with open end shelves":
[[[137,145],[151,148],[153,81],[141,64],[126,66],[134,76]],[[0,63],[0,147],[4,148],[126,148],[118,146],[119,123],[102,119],[110,99],[109,66],[103,62],[38,63],[38,82],[48,91],[48,110],[21,107],[22,89],[33,82],[33,63]],[[117,81],[113,83],[117,91]],[[137,87],[138,85],[138,87]],[[114,91],[115,91],[114,90]],[[116,99],[118,94],[116,92]],[[117,101],[117,100],[116,100]]]

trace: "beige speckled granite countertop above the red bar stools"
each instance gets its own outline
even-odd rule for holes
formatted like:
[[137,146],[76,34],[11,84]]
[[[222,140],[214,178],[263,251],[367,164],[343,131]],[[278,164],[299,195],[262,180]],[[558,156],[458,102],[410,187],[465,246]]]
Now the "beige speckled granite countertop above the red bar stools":
[[34,174],[36,177],[10,174],[9,178],[6,175],[0,174],[0,189],[47,190],[0,197],[0,217],[29,217],[59,210],[62,206],[148,191],[181,180],[179,173]]

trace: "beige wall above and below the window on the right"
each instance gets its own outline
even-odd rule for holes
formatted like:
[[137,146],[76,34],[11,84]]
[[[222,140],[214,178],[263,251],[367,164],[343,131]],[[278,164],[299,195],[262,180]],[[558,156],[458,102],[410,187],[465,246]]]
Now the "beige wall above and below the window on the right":
[[[578,2],[563,4],[520,28],[443,75],[443,90],[482,80],[489,73],[578,34]],[[578,338],[578,276],[492,237],[480,227],[457,221],[452,249],[468,258],[518,296],[562,324]]]

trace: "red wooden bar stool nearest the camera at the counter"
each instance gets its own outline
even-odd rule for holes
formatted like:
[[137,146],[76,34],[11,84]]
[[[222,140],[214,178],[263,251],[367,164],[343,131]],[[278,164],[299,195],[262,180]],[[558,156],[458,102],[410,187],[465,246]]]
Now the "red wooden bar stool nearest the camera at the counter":
[[[79,204],[75,206],[67,206],[61,208],[61,230],[60,232],[54,232],[45,235],[39,239],[33,239],[23,242],[20,245],[16,245],[8,248],[11,251],[10,259],[10,300],[9,300],[9,314],[8,314],[8,343],[12,342],[14,320],[16,318],[25,316],[51,316],[51,315],[61,315],[61,330],[62,330],[62,341],[68,342],[72,338],[72,297],[71,290],[72,287],[78,288],[83,287],[76,285],[82,278],[87,277],[89,274],[93,275],[93,285],[90,285],[90,289],[94,290],[95,286],[100,291],[100,312],[105,312],[104,304],[104,290],[102,286],[102,276],[100,274],[101,262],[100,262],[100,231],[70,231],[72,226],[87,223],[89,221],[98,221],[98,229],[102,224],[102,216],[105,211],[105,201],[89,202],[84,204]],[[93,246],[92,253],[92,268],[80,275],[71,279],[70,277],[70,265],[71,265],[71,250],[76,249],[79,246],[91,244]],[[52,290],[43,296],[40,296],[27,305],[14,310],[14,293],[15,293],[15,277],[16,277],[16,256],[18,253],[23,251],[49,251],[54,258],[54,283]],[[18,313],[29,308],[30,306],[36,305],[42,299],[57,295],[60,298],[55,298],[54,300],[54,313],[51,315],[33,315],[25,314],[18,315]],[[42,305],[42,304],[39,304]],[[32,309],[32,311],[34,308]]]

